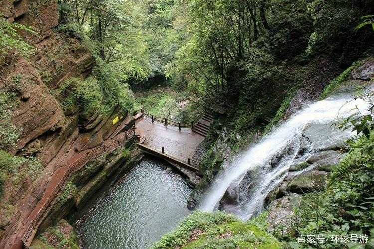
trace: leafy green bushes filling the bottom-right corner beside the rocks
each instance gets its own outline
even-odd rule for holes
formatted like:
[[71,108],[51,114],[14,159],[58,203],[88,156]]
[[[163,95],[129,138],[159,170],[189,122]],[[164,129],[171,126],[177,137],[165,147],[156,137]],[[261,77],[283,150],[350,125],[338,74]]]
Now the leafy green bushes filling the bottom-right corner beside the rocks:
[[[373,124],[372,121],[367,121]],[[357,124],[356,124],[357,126]],[[357,129],[356,129],[357,130]],[[329,188],[322,194],[312,193],[303,197],[302,204],[295,209],[293,229],[295,234],[368,235],[367,247],[374,245],[374,131],[348,141],[348,155],[333,169]],[[363,244],[328,241],[322,245],[301,246],[364,248]]]

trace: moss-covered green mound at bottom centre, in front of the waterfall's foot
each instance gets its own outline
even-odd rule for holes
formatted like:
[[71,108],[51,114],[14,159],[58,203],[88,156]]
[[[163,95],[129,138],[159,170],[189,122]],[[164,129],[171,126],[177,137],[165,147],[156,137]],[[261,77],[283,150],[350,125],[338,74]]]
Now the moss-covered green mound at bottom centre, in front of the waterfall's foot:
[[280,248],[279,242],[256,226],[224,213],[194,212],[153,248]]

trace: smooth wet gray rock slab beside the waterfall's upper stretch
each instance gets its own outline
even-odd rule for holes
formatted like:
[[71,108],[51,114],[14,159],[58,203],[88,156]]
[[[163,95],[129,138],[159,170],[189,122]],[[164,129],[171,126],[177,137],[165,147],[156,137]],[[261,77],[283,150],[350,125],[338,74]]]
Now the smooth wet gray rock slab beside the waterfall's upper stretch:
[[347,149],[346,140],[349,131],[342,131],[331,127],[331,124],[307,124],[303,130],[303,136],[308,137],[313,148],[320,150]]

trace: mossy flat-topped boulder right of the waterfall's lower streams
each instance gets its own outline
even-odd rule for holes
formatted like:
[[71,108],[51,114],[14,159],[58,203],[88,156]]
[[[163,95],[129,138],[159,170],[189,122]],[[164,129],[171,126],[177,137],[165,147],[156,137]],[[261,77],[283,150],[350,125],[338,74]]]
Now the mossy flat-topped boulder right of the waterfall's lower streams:
[[288,181],[287,192],[303,194],[323,191],[327,187],[327,176],[327,172],[319,170],[302,173]]

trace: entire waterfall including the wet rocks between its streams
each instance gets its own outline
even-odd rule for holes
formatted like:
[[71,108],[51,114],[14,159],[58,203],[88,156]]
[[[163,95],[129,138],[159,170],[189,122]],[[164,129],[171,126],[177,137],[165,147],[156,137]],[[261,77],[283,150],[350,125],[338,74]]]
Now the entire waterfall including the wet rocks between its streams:
[[[223,209],[243,220],[258,214],[268,193],[287,174],[300,174],[313,168],[312,165],[301,172],[287,173],[291,165],[305,162],[317,150],[333,149],[352,135],[351,130],[337,130],[331,125],[337,118],[357,112],[356,106],[367,113],[368,103],[359,98],[354,100],[347,93],[306,104],[223,169],[197,208],[210,212]],[[230,191],[234,192],[231,193],[236,199],[234,204],[220,207],[222,197]]]

